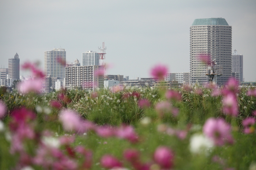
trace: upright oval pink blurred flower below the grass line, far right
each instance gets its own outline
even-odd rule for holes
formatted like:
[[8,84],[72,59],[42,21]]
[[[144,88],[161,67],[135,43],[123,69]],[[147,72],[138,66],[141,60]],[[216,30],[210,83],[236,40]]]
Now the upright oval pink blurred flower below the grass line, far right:
[[238,102],[234,94],[230,93],[223,97],[224,114],[236,117],[238,115]]

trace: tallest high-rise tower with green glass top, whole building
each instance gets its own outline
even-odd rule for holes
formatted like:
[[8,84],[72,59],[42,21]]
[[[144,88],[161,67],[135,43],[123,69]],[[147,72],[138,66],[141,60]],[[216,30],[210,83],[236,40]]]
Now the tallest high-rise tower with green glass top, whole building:
[[195,19],[190,26],[190,84],[208,81],[206,64],[200,55],[207,55],[222,68],[218,84],[222,85],[232,76],[232,27],[224,18]]

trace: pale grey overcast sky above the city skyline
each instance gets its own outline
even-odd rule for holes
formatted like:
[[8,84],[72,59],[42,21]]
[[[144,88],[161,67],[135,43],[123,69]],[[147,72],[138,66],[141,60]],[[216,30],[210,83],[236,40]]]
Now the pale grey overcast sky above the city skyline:
[[[256,81],[255,0],[1,0],[0,65],[20,64],[64,48],[67,63],[105,42],[107,74],[150,77],[156,64],[189,72],[189,26],[222,17],[232,26],[232,51],[244,56],[244,79]],[[20,71],[20,75],[27,76]]]

